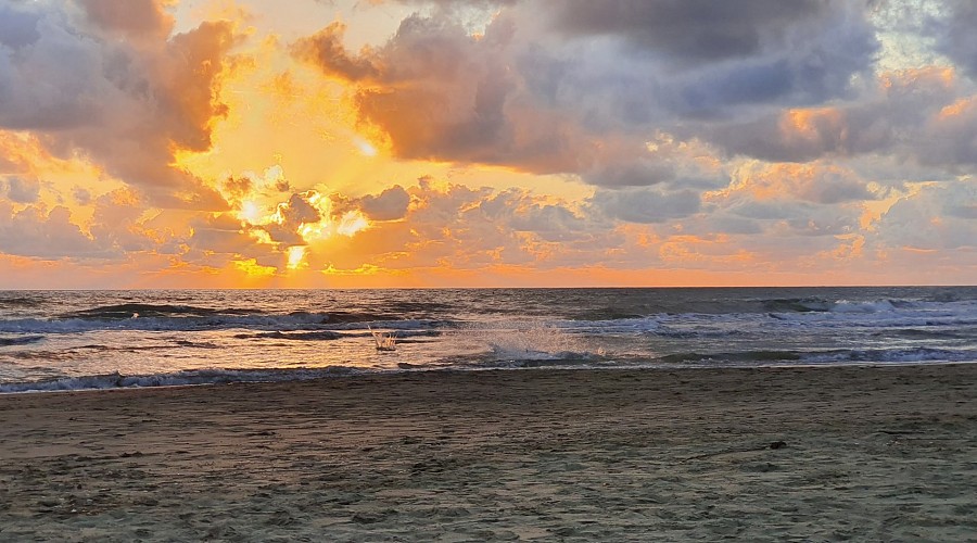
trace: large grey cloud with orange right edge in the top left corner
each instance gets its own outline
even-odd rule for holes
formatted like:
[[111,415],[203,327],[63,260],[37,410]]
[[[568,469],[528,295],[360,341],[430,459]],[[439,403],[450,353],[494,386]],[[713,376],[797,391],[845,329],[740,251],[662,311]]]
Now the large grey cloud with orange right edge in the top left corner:
[[160,205],[219,207],[172,164],[177,150],[210,148],[226,112],[220,74],[240,38],[227,22],[170,35],[161,1],[116,4],[0,5],[0,20],[18,23],[0,25],[0,127],[42,135],[55,155],[86,155]]

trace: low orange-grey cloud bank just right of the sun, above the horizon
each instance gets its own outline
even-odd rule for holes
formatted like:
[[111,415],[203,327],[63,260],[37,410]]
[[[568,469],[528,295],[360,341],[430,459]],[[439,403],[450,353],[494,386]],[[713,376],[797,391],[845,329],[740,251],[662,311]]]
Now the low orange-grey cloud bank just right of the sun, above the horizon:
[[606,217],[524,189],[496,191],[423,177],[404,190],[411,203],[403,220],[373,223],[342,250],[313,254],[310,268],[551,268],[593,262],[620,243]]

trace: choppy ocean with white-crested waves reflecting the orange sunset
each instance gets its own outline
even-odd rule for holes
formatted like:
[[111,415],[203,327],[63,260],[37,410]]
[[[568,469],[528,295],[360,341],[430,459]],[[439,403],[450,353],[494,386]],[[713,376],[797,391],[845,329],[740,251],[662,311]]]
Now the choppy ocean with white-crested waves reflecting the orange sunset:
[[0,291],[0,393],[962,362],[977,287]]

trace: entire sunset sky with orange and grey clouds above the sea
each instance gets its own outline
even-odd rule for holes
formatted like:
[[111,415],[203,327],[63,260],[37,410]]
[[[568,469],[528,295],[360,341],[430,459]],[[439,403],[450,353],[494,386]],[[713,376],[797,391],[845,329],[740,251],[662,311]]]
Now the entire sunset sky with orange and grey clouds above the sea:
[[967,0],[0,0],[0,289],[974,285]]

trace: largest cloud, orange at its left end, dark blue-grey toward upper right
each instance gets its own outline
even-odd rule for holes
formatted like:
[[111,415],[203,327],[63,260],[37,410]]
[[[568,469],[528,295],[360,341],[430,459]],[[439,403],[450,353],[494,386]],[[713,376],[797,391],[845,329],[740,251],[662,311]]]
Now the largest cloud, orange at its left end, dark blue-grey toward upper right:
[[481,34],[460,11],[491,2],[408,3],[436,9],[379,47],[348,51],[333,23],[292,53],[350,84],[397,156],[607,187],[702,182],[649,154],[648,138],[846,97],[877,50],[864,7],[839,1],[498,2]]

